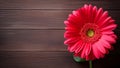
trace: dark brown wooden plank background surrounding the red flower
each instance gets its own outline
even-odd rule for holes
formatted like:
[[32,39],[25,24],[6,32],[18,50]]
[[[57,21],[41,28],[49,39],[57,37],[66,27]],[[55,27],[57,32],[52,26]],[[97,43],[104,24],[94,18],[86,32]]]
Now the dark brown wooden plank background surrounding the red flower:
[[[63,44],[63,21],[85,3],[108,10],[120,26],[120,0],[0,0],[0,68],[88,68],[88,62],[76,63]],[[93,67],[118,68],[119,42]]]

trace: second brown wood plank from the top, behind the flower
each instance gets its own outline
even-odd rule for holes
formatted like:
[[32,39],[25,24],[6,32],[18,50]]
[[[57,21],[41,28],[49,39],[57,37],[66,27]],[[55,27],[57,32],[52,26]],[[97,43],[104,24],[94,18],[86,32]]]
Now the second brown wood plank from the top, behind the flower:
[[[0,10],[0,29],[63,29],[72,10]],[[109,11],[116,23],[120,11]],[[119,24],[120,25],[120,24]]]

